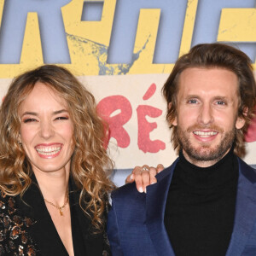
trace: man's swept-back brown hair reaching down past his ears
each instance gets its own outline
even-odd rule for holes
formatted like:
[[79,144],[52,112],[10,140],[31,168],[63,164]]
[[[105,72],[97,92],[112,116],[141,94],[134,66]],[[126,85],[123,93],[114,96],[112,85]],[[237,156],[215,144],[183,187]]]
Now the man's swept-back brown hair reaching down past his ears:
[[[181,145],[177,140],[177,126],[172,121],[177,115],[177,91],[179,76],[189,67],[224,68],[236,73],[238,78],[239,108],[237,116],[245,119],[245,125],[236,129],[235,154],[242,157],[246,153],[244,135],[256,105],[256,84],[253,76],[253,67],[249,57],[241,50],[227,44],[197,44],[188,54],[181,56],[172,69],[172,73],[163,87],[163,94],[167,101],[166,119],[172,129],[172,144],[179,151]],[[171,104],[170,104],[171,103]]]

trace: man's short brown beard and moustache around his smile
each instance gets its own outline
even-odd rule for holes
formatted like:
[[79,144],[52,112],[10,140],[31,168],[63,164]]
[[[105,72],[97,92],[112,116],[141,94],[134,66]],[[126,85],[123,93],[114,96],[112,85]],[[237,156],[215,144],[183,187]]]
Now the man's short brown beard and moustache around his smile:
[[[236,131],[235,126],[231,131],[226,131],[223,133],[223,129],[214,125],[211,127],[199,127],[200,125],[190,126],[187,131],[182,131],[177,125],[177,139],[181,148],[188,154],[189,158],[197,161],[213,161],[220,160],[224,157],[224,154],[232,147],[235,141]],[[214,148],[211,148],[211,142],[204,143],[199,142],[199,145],[195,146],[191,143],[189,139],[189,134],[195,130],[209,129],[212,131],[218,131],[219,134],[224,134],[224,137]],[[200,145],[201,144],[201,145]]]

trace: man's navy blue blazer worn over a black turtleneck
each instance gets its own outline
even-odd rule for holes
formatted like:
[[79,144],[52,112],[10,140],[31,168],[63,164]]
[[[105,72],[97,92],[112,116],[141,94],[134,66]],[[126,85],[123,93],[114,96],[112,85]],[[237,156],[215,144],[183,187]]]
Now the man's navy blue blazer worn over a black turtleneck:
[[[178,159],[177,159],[178,160]],[[164,224],[166,200],[173,170],[160,172],[147,194],[137,192],[134,183],[112,193],[108,213],[108,239],[113,256],[174,256]],[[235,223],[227,256],[256,255],[256,170],[239,161]]]

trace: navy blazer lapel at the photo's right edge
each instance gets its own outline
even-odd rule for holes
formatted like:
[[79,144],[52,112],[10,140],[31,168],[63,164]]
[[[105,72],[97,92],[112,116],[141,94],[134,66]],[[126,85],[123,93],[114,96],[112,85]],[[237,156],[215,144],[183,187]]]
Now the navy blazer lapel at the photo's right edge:
[[227,256],[241,255],[253,225],[256,221],[256,188],[255,171],[239,160],[239,180],[236,196],[236,214],[234,229],[230,240]]

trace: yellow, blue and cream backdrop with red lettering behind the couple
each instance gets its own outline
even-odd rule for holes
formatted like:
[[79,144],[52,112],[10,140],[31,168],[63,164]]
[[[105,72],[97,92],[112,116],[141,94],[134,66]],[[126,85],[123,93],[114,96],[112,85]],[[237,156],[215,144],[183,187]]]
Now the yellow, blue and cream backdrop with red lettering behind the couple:
[[[179,55],[227,42],[256,68],[255,0],[0,0],[0,22],[0,97],[27,69],[70,69],[108,120],[118,185],[133,166],[169,166],[177,157],[160,90]],[[256,119],[247,134],[250,165],[255,152]]]

